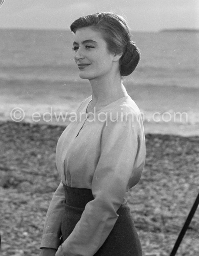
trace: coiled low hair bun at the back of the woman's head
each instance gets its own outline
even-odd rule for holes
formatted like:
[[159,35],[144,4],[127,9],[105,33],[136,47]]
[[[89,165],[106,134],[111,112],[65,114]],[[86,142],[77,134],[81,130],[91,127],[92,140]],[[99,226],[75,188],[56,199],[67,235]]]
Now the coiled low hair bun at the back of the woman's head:
[[140,60],[140,51],[133,41],[129,41],[120,62],[121,76],[130,75]]

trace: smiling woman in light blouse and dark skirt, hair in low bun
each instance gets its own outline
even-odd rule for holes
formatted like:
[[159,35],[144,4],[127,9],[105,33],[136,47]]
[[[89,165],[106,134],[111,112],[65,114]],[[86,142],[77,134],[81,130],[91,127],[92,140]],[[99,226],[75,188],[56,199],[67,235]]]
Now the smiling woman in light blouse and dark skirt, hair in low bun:
[[92,96],[56,148],[61,182],[50,203],[42,256],[141,256],[124,199],[145,161],[143,122],[122,76],[134,71],[139,50],[126,21],[113,13],[81,17],[71,25],[79,76]]

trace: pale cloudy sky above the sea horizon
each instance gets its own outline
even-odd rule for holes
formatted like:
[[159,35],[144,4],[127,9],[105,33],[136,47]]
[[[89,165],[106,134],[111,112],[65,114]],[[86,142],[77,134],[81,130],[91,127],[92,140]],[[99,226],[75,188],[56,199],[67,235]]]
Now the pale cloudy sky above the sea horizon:
[[5,0],[0,28],[69,29],[80,16],[110,11],[133,31],[199,29],[199,0]]

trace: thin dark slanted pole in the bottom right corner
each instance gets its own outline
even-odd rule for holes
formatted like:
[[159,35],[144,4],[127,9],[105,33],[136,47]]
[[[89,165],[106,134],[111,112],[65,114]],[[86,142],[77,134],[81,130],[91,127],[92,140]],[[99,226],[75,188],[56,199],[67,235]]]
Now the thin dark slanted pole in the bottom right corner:
[[185,221],[185,224],[184,224],[181,232],[179,233],[178,239],[175,242],[175,245],[173,247],[173,250],[172,250],[170,256],[175,256],[175,253],[177,252],[177,249],[178,249],[178,247],[179,247],[179,245],[180,245],[180,243],[181,243],[181,241],[183,239],[183,236],[185,235],[185,232],[186,232],[187,228],[189,227],[189,224],[191,222],[191,219],[194,216],[194,213],[195,213],[195,211],[196,211],[196,209],[198,207],[198,204],[199,204],[199,194],[196,197],[196,200],[195,200],[195,202],[194,202],[194,204],[193,204],[193,206],[191,208],[191,211],[190,211],[190,213],[189,213],[189,215],[188,215],[188,217],[187,217],[187,219]]

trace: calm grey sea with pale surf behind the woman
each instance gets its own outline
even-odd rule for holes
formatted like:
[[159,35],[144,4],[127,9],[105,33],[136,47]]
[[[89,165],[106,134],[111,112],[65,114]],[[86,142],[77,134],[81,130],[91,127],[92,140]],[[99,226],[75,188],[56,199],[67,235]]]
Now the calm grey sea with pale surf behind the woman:
[[[141,52],[123,79],[145,133],[199,136],[199,32],[132,32]],[[0,121],[66,126],[92,94],[68,30],[0,30]]]

